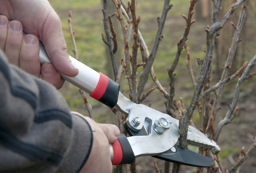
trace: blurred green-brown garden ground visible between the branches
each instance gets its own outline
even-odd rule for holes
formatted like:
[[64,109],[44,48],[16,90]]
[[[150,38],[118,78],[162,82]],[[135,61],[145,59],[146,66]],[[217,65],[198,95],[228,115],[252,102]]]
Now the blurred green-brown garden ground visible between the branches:
[[[57,14],[60,16],[63,33],[65,40],[67,42],[69,55],[74,56],[72,52],[72,40],[69,33],[68,27],[68,13],[72,11],[72,30],[75,31],[76,46],[78,49],[78,57],[80,61],[87,66],[93,68],[98,72],[102,72],[113,79],[113,69],[111,65],[111,60],[109,57],[108,47],[102,41],[101,33],[105,35],[103,27],[103,0],[49,0],[52,7],[56,10]],[[127,2],[127,1],[125,1]],[[148,46],[149,52],[152,49],[155,34],[158,29],[157,17],[161,17],[162,8],[164,1],[155,0],[139,0],[136,9],[136,16],[141,16],[141,21],[139,23],[139,30]],[[171,0],[170,4],[173,4],[172,9],[168,12],[167,19],[165,22],[165,27],[163,29],[163,35],[165,38],[160,43],[158,48],[157,56],[154,61],[154,71],[161,82],[161,84],[169,92],[169,76],[167,74],[167,69],[170,68],[177,51],[177,43],[183,36],[185,30],[186,22],[182,18],[182,14],[188,14],[189,0]],[[222,10],[220,18],[226,14],[226,12],[231,8],[233,4],[232,0],[226,0],[222,2]],[[112,15],[116,12],[116,8],[111,0],[108,1],[108,14]],[[212,1],[210,0],[199,0],[196,3],[195,14],[193,19],[196,20],[191,26],[190,33],[188,35],[187,44],[190,49],[192,67],[195,77],[197,76],[198,65],[196,61],[196,56],[200,59],[204,59],[204,49],[206,49],[206,32],[207,25],[211,26],[212,18]],[[212,67],[212,85],[217,83],[222,74],[223,66],[225,65],[229,47],[231,46],[232,38],[234,35],[234,27],[230,24],[232,21],[237,24],[239,15],[241,12],[241,7],[239,7],[231,16],[230,20],[226,23],[225,27],[220,31],[220,36],[218,36],[218,41],[216,44],[213,67]],[[121,25],[115,16],[112,17],[114,23],[115,31],[117,32],[118,40],[118,50],[115,54],[117,59],[117,64],[123,56],[124,45],[123,45],[123,33]],[[247,11],[247,20],[244,23],[242,29],[242,34],[240,38],[241,42],[238,44],[237,52],[232,64],[231,74],[234,74],[245,61],[250,61],[256,54],[256,2],[250,1],[249,8]],[[132,42],[130,42],[129,47],[132,47]],[[131,52],[131,51],[130,51]],[[180,97],[183,98],[185,107],[188,106],[189,101],[193,93],[193,84],[185,64],[187,56],[185,50],[182,51],[178,66],[176,68],[176,81],[175,81],[175,98],[179,100]],[[142,62],[140,51],[138,51],[138,63]],[[138,73],[142,68],[138,69]],[[255,72],[255,68],[251,72]],[[124,90],[124,94],[128,97],[128,84],[127,80],[124,78],[121,82],[121,90]],[[139,76],[139,74],[138,74]],[[138,78],[138,77],[137,77]],[[138,78],[139,79],[139,78]],[[229,82],[225,86],[225,92],[223,94],[221,106],[222,109],[219,110],[217,118],[215,121],[215,126],[218,125],[229,109],[228,103],[232,102],[233,94],[235,91],[236,82],[238,77],[234,80],[235,85]],[[242,146],[245,147],[245,151],[249,149],[252,145],[253,135],[256,135],[256,76],[251,79],[246,80],[242,84],[242,90],[240,93],[239,112],[237,117],[234,119],[233,123],[224,126],[222,133],[219,137],[218,144],[221,146],[220,156],[223,161],[225,169],[230,169],[234,162],[237,162],[238,155]],[[153,80],[149,78],[144,93],[155,86]],[[88,116],[87,110],[84,106],[83,99],[78,92],[77,87],[65,82],[64,86],[59,90],[63,97],[68,102],[72,111],[78,111],[79,113]],[[215,97],[212,93],[211,97]],[[93,107],[93,114],[96,122],[100,123],[113,123],[116,124],[116,117],[112,111],[102,103],[95,101],[90,98],[87,94],[87,99],[89,104]],[[154,90],[149,97],[142,103],[148,105],[152,104],[154,109],[162,111],[165,113],[165,104],[163,103],[165,98],[161,95],[158,90]],[[177,111],[176,111],[176,114]],[[199,125],[199,113],[196,109],[193,115],[193,122],[198,127]],[[198,150],[197,148],[190,147],[191,150]],[[251,157],[242,164],[240,172],[256,172],[256,152],[251,155]],[[153,173],[154,165],[151,157],[141,157],[137,158],[137,170],[141,173]],[[159,169],[163,170],[164,161],[157,160]],[[129,166],[128,166],[129,168]],[[189,166],[182,166],[181,172],[195,172],[196,168]],[[128,171],[129,172],[129,171]]]

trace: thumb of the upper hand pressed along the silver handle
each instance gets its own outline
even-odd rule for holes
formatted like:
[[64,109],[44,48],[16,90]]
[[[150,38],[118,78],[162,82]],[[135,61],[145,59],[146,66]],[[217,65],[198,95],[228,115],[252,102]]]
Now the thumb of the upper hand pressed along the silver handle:
[[43,28],[47,28],[42,34],[42,43],[52,61],[53,66],[60,73],[67,76],[76,76],[78,69],[71,63],[68,57],[67,45],[61,29],[60,18],[50,10],[49,15],[44,23]]

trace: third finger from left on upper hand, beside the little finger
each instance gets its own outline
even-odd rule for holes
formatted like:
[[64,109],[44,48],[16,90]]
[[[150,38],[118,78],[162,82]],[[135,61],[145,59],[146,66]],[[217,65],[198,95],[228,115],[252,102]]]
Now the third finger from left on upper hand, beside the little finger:
[[40,77],[39,41],[32,34],[27,34],[23,38],[19,54],[19,67],[38,78]]

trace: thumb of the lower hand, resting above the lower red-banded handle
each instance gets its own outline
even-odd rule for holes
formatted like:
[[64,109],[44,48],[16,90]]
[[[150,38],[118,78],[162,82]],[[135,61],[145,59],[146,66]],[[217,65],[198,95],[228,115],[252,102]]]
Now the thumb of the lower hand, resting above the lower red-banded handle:
[[119,137],[120,130],[116,125],[98,123],[98,126],[101,127],[102,131],[108,138],[109,143],[113,143]]

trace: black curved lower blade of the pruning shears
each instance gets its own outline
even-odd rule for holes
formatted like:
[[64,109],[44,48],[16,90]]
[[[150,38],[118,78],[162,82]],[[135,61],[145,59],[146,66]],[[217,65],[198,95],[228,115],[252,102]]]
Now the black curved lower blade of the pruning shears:
[[174,145],[172,149],[168,150],[164,154],[153,156],[161,160],[166,160],[176,164],[196,166],[196,167],[208,167],[214,164],[214,160],[210,157],[203,156],[202,154],[192,152],[191,150],[184,149],[181,146]]

